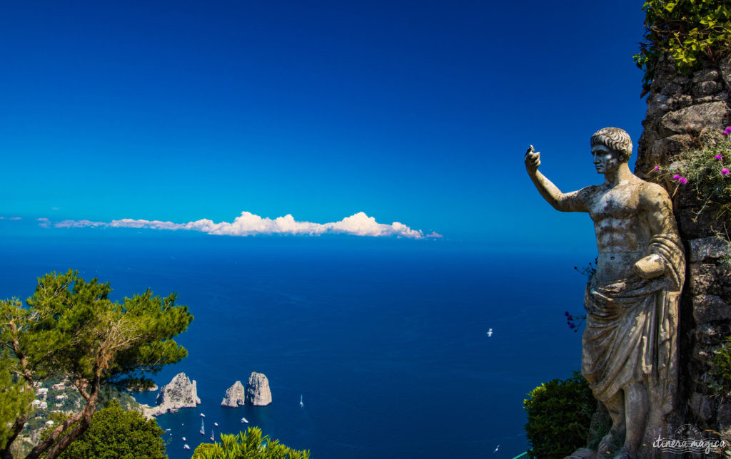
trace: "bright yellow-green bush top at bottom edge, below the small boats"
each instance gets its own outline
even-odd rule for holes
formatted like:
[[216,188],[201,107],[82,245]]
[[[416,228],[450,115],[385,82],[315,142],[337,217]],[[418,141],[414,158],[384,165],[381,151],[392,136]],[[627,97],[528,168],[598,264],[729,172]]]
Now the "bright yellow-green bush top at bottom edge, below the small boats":
[[221,442],[200,444],[192,459],[309,459],[308,450],[298,451],[280,444],[278,440],[262,438],[257,427],[238,435],[221,435]]

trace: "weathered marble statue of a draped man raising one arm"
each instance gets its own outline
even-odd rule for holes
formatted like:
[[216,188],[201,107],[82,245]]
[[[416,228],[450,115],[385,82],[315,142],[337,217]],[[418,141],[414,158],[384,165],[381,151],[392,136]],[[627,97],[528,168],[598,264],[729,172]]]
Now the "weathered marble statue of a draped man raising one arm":
[[604,183],[571,193],[538,171],[540,153],[532,145],[525,163],[550,205],[594,220],[599,258],[584,295],[581,372],[612,418],[599,454],[607,457],[624,438],[616,457],[637,458],[653,455],[643,449],[671,428],[685,255],[667,191],[629,171],[629,134],[600,129],[591,136],[591,154]]

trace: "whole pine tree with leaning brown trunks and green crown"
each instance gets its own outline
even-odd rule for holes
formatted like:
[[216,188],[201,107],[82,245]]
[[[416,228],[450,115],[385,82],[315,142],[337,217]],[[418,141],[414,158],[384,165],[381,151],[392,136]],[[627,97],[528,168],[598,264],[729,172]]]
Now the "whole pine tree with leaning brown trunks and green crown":
[[0,301],[0,381],[11,382],[0,392],[0,417],[11,409],[16,414],[10,430],[0,430],[0,458],[12,458],[10,446],[28,420],[29,409],[11,405],[23,397],[26,403],[34,382],[67,377],[86,401],[26,456],[53,459],[91,425],[104,387],[150,387],[147,374],[186,357],[173,338],[193,316],[175,304],[177,294],[162,298],[148,289],[111,301],[111,292],[109,282],[86,282],[69,270],[37,279],[26,304]]

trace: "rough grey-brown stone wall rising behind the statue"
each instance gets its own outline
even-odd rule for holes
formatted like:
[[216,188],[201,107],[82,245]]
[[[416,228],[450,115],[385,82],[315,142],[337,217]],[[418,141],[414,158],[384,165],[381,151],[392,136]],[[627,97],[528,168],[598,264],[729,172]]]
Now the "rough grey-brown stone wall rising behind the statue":
[[[678,153],[697,146],[700,134],[730,126],[730,93],[731,58],[718,64],[705,63],[687,76],[675,72],[670,61],[661,60],[648,94],[635,167],[637,176],[664,185],[673,195],[675,218],[686,248],[677,419],[701,430],[719,432],[731,428],[731,400],[712,396],[708,369],[713,351],[731,335],[731,278],[719,267],[725,244],[713,236],[713,228],[721,230],[724,221],[716,219],[714,212],[695,218],[702,203],[694,200],[689,188],[678,188],[672,174],[663,177],[662,169],[656,172],[654,166],[667,170]],[[728,217],[724,220],[729,223]]]

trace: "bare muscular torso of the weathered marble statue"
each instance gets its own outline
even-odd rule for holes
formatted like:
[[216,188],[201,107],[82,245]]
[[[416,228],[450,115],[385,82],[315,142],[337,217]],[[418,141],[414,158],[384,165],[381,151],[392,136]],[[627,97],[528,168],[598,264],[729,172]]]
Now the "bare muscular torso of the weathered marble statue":
[[602,284],[626,278],[646,255],[651,231],[640,206],[644,183],[633,177],[613,188],[591,187],[587,204],[599,250],[596,280]]

